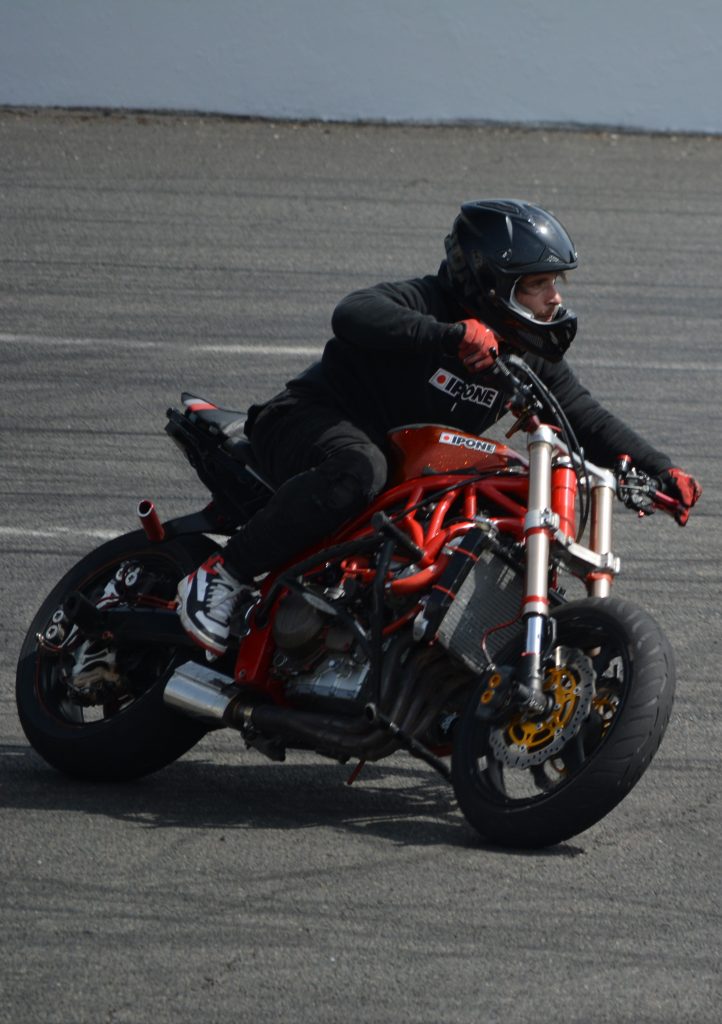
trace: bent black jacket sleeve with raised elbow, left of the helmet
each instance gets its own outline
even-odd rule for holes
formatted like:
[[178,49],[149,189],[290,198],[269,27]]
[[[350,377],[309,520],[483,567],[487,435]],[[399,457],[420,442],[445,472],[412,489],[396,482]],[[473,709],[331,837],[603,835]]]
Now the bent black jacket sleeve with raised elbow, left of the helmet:
[[334,335],[358,348],[413,355],[440,346],[456,353],[463,328],[439,318],[448,314],[424,279],[375,285],[352,292],[332,317]]

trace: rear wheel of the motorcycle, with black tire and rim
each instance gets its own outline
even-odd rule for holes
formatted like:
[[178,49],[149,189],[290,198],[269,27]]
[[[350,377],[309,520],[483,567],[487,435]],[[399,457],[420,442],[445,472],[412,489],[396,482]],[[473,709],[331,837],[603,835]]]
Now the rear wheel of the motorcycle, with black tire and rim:
[[[62,604],[74,591],[99,606],[171,602],[212,549],[204,537],[152,544],[142,530],[127,534],[78,562],[44,601],[20,651],[15,694],[25,733],[48,764],[81,778],[130,779],[201,739],[203,725],[163,702],[170,674],[192,656],[186,647],[127,645],[89,656]],[[94,671],[79,675],[81,663]]]

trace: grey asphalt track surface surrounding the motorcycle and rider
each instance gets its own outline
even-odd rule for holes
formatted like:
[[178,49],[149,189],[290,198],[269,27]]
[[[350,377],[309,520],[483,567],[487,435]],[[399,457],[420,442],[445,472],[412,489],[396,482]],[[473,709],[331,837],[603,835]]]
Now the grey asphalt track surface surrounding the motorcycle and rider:
[[[617,517],[617,591],[678,662],[646,775],[518,853],[405,756],[349,787],[220,732],[129,785],[55,773],[17,721],[17,652],[139,499],[205,503],[166,408],[272,394],[341,297],[435,271],[481,196],[566,224],[572,364],[705,487],[683,530]],[[721,240],[722,138],[0,112],[0,1021],[719,1019]]]

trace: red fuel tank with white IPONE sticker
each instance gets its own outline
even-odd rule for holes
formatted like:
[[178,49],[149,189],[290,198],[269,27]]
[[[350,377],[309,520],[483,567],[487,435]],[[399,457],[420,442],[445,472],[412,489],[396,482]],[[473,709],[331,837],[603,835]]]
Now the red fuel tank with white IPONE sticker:
[[527,465],[525,456],[500,441],[467,434],[436,423],[414,423],[389,431],[391,482],[401,483],[423,473],[478,469],[498,473]]

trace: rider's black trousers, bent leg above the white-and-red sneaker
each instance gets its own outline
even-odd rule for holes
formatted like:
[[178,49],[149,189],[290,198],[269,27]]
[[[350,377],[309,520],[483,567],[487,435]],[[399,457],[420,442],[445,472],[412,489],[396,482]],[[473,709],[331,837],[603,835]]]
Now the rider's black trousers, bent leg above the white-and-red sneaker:
[[383,488],[387,465],[340,410],[288,391],[261,408],[249,433],[259,468],[279,488],[225,548],[230,568],[250,581],[362,512]]

